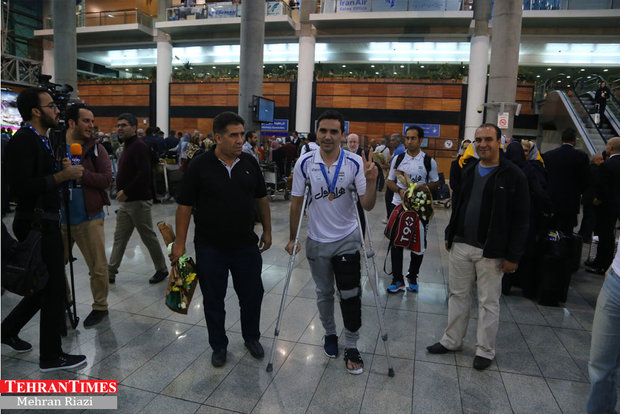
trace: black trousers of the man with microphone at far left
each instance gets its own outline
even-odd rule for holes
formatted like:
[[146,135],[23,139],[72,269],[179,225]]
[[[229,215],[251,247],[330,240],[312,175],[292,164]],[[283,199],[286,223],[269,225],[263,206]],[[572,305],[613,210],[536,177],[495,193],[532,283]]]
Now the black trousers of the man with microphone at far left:
[[[30,231],[30,221],[13,221],[13,231],[18,240],[24,240]],[[16,336],[20,330],[41,310],[39,324],[39,360],[56,359],[62,353],[60,327],[64,323],[66,281],[60,224],[43,220],[41,250],[47,265],[49,280],[45,288],[24,297],[2,321],[2,336]]]

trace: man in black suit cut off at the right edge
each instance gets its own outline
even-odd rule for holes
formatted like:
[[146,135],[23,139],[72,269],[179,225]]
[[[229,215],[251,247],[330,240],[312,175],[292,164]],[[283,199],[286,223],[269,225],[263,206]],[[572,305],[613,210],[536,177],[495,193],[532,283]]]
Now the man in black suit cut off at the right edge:
[[620,218],[620,137],[611,138],[605,148],[609,159],[601,164],[596,207],[596,233],[599,237],[596,258],[586,270],[603,275],[614,258],[614,230]]

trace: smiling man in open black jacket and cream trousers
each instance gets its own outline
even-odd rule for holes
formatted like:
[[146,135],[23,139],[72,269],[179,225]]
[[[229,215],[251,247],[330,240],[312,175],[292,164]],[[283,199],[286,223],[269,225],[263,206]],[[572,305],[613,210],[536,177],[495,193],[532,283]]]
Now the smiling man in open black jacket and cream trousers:
[[457,351],[467,333],[471,290],[478,289],[478,329],[474,368],[484,370],[495,357],[502,274],[513,273],[525,250],[529,191],[521,170],[500,149],[501,130],[483,124],[476,130],[476,162],[462,172],[461,192],[446,228],[450,252],[448,326],[431,354]]

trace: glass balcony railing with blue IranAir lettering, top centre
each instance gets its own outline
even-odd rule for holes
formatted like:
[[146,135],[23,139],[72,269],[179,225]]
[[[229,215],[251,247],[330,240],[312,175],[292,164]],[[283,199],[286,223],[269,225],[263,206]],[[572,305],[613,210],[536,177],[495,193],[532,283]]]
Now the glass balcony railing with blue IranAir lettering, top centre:
[[321,13],[471,10],[472,0],[322,0]]

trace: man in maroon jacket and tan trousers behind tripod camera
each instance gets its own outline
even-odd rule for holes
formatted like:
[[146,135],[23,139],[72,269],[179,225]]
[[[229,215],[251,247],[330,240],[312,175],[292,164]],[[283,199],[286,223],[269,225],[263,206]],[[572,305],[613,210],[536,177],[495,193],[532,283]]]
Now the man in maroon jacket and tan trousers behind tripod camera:
[[[68,200],[69,210],[63,211],[63,242],[65,261],[69,249],[75,242],[88,266],[90,290],[93,294],[93,310],[84,320],[84,327],[101,322],[108,315],[108,259],[105,255],[105,234],[103,232],[104,205],[110,205],[107,189],[112,184],[110,157],[93,136],[95,117],[84,104],[75,104],[67,109],[67,152],[79,145],[84,167],[82,179],[72,182]],[[70,160],[66,163],[71,164]],[[67,244],[67,213],[71,223],[71,246]]]

